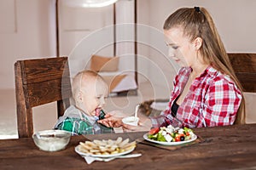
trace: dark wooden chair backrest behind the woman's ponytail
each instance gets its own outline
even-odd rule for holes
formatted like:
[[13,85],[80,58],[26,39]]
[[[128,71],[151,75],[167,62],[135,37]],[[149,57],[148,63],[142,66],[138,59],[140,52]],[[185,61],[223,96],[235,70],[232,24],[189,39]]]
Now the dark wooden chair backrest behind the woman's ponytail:
[[256,54],[228,54],[244,92],[256,93]]

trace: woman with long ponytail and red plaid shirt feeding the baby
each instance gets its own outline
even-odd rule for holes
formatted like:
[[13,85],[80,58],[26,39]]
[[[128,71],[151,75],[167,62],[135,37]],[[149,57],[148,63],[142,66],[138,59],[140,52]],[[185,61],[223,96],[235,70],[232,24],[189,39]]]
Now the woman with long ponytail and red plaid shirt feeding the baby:
[[[169,56],[182,68],[166,111],[152,127],[213,127],[244,123],[241,85],[206,8],[179,8],[165,21]],[[108,126],[121,125],[109,118]]]

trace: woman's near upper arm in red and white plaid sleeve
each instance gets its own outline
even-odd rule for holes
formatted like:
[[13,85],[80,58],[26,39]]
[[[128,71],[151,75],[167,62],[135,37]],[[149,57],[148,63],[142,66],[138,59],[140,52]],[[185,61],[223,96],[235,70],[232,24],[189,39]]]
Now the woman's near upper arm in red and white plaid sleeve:
[[208,88],[202,116],[207,127],[231,125],[241,104],[241,91],[227,79],[214,80]]

